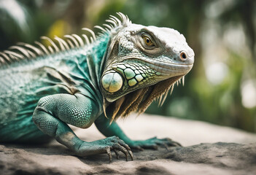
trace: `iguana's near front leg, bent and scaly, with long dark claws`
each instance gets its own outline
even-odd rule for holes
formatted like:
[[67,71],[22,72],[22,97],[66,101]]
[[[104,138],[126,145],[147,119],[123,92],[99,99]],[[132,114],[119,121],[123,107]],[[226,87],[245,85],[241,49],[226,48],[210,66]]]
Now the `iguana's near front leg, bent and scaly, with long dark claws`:
[[79,128],[88,128],[98,116],[98,106],[82,94],[55,94],[41,98],[33,114],[34,123],[61,144],[79,156],[96,155],[106,152],[112,159],[111,150],[120,150],[126,155],[132,154],[130,148],[117,137],[86,142],[79,139],[69,128],[71,124]]

